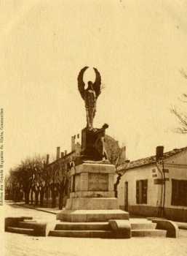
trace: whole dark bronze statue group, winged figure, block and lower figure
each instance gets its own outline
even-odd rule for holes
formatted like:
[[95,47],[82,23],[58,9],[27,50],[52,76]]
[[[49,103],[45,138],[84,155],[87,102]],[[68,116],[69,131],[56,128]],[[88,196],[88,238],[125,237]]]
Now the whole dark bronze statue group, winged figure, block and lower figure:
[[83,80],[84,72],[88,67],[81,69],[78,75],[78,88],[82,99],[85,102],[85,108],[87,111],[87,127],[81,130],[81,157],[79,160],[93,160],[100,161],[106,160],[107,154],[104,146],[105,132],[108,128],[108,124],[104,124],[102,128],[93,127],[93,118],[96,112],[96,101],[100,95],[101,78],[98,69],[95,70],[95,82],[89,81],[87,83],[87,89],[85,89],[85,83]]

